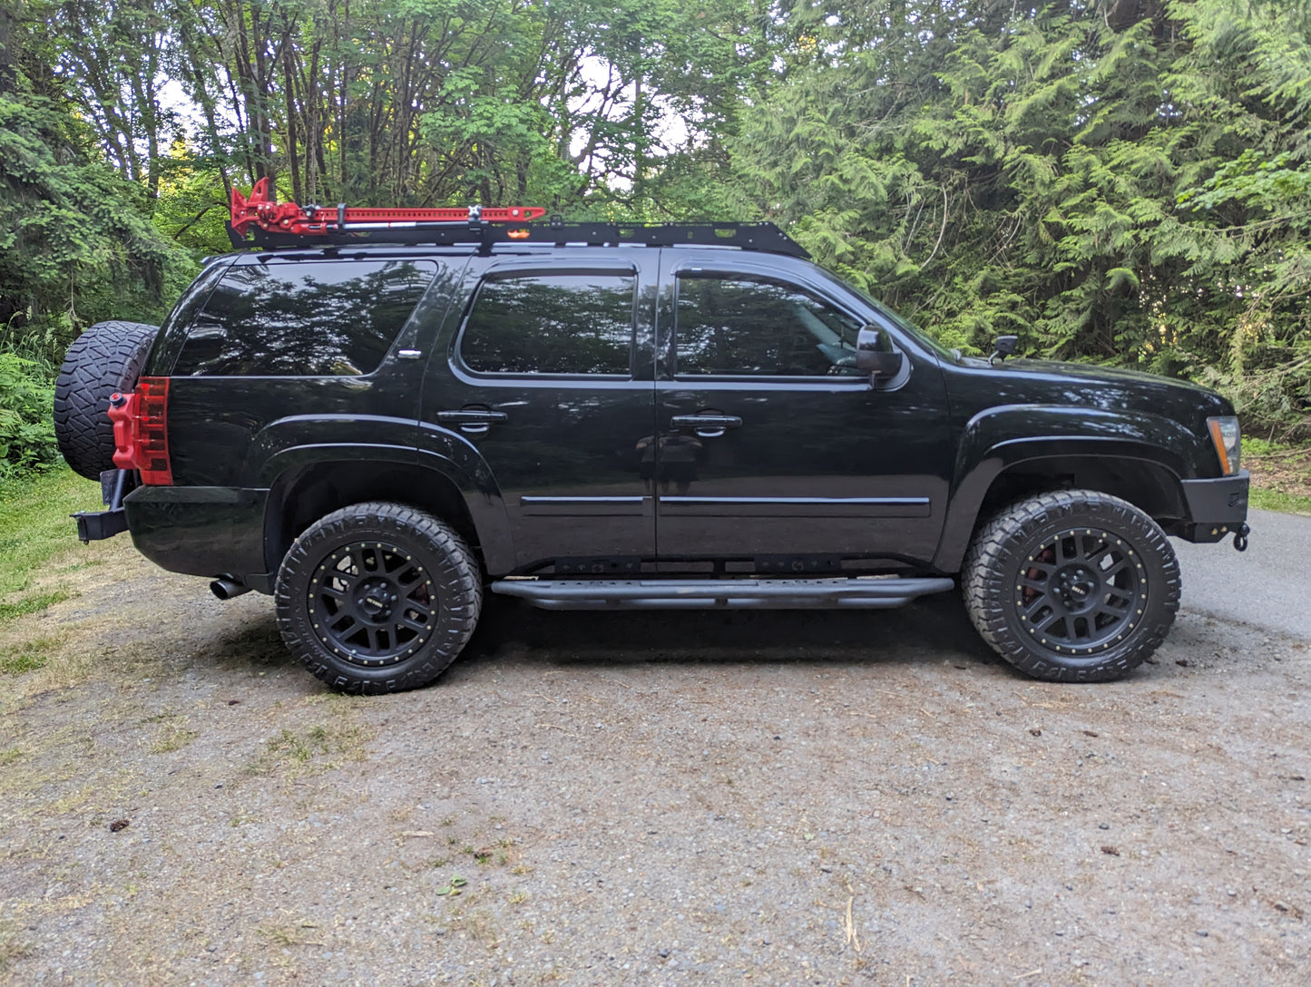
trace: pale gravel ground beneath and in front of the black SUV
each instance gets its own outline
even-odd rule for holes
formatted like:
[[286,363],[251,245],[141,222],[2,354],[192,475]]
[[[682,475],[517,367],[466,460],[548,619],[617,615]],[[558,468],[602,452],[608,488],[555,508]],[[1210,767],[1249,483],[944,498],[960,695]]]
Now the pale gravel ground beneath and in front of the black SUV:
[[1311,979],[1304,638],[1185,607],[1074,687],[954,595],[493,602],[437,686],[350,699],[266,598],[71,565],[0,629],[47,655],[0,676],[0,983]]

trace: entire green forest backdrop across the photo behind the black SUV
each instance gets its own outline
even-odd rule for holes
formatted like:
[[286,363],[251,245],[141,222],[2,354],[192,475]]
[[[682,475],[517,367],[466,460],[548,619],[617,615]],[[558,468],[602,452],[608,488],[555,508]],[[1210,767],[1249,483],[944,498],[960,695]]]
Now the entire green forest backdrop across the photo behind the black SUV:
[[772,219],[948,345],[1311,435],[1307,0],[28,0],[0,50],[0,322],[46,363],[156,321],[271,176]]

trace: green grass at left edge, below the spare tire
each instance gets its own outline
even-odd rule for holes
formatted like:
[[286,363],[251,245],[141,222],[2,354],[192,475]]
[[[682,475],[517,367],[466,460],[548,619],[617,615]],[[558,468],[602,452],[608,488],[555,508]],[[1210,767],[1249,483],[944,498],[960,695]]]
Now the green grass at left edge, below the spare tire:
[[[0,598],[22,592],[52,556],[77,547],[69,514],[100,507],[100,484],[66,465],[0,484]],[[56,602],[39,603],[42,595],[0,606],[9,608],[9,616],[21,616]]]

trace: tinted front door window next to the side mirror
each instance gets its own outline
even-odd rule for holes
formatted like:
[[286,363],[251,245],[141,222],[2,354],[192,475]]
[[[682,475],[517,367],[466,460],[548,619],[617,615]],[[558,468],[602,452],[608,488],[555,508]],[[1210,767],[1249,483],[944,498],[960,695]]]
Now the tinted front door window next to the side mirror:
[[856,375],[860,324],[764,279],[678,279],[678,375]]

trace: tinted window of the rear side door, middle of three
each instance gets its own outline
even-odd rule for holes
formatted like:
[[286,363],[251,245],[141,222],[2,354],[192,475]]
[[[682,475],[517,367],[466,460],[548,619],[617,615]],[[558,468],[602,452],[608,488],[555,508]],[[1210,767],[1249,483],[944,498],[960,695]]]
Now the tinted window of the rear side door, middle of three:
[[621,374],[633,345],[632,275],[534,274],[485,281],[460,339],[481,374]]

